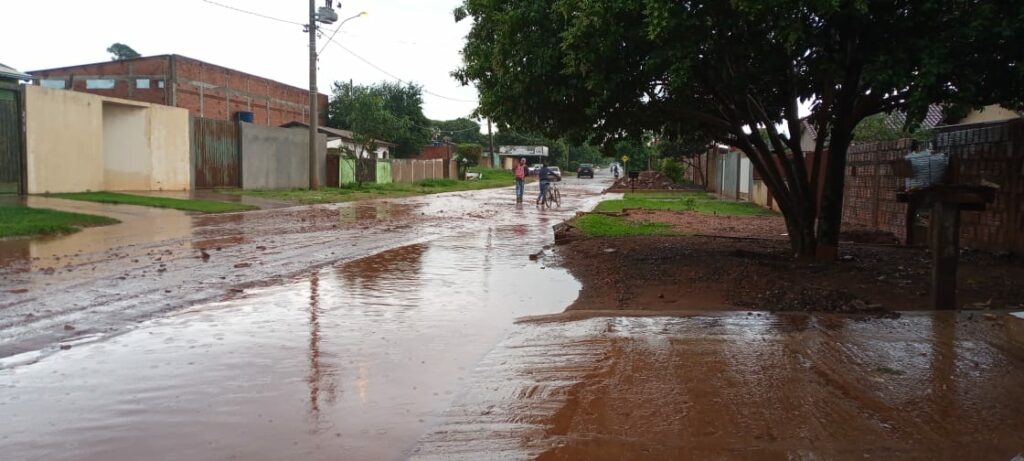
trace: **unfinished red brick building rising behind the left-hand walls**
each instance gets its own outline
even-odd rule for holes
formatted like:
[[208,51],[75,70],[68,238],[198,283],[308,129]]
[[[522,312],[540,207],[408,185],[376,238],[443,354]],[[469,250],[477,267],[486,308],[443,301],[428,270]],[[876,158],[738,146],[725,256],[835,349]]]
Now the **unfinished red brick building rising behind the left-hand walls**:
[[[252,113],[253,123],[280,126],[309,119],[308,89],[256,77],[178,54],[32,71],[35,83],[104,96],[187,109],[193,117],[232,120]],[[321,123],[326,94],[317,95]]]

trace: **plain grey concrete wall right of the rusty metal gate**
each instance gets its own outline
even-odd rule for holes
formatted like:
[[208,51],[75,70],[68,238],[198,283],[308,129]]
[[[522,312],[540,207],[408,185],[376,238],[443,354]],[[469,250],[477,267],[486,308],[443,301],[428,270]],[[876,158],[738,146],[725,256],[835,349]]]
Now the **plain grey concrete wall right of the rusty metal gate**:
[[[309,132],[251,123],[240,125],[242,188],[309,185]],[[319,183],[327,181],[327,136],[317,135]]]

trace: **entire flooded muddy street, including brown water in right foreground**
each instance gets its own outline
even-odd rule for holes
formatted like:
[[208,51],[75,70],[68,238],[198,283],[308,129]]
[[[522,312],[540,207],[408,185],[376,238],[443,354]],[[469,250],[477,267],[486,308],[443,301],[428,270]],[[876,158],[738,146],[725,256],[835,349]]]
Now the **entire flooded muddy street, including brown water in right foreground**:
[[555,211],[509,190],[221,216],[40,203],[124,223],[0,247],[0,458],[1024,452],[1024,347],[994,316],[563,312],[583,287],[552,225],[604,183],[567,179]]

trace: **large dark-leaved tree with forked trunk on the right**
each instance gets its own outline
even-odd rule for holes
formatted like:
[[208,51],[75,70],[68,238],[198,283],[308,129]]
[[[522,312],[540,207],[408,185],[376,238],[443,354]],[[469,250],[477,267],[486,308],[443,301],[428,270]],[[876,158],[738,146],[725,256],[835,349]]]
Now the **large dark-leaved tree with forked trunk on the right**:
[[[454,76],[479,89],[478,112],[549,136],[698,132],[733,145],[804,258],[835,258],[862,119],[920,120],[933,102],[1016,109],[1024,95],[1024,2],[466,0],[455,12],[473,19]],[[820,135],[805,154],[807,106]]]

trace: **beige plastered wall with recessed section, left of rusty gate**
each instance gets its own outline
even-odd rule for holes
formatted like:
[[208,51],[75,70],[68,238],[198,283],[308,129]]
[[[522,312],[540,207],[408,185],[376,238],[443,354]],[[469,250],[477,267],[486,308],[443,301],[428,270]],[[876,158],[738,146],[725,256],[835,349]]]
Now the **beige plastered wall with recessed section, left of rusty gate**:
[[29,194],[188,190],[188,112],[26,87]]

